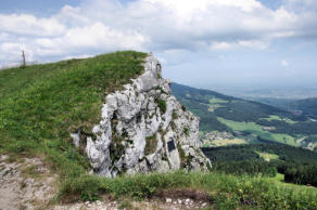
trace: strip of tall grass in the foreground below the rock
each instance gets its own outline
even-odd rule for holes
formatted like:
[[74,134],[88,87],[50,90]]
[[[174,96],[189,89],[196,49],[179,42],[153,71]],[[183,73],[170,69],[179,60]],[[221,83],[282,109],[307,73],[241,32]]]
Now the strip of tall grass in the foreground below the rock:
[[223,173],[139,174],[104,179],[81,176],[68,180],[60,196],[66,199],[98,199],[102,194],[132,199],[154,198],[161,191],[195,189],[207,195],[205,209],[316,209],[317,189],[280,182],[280,179],[251,178]]

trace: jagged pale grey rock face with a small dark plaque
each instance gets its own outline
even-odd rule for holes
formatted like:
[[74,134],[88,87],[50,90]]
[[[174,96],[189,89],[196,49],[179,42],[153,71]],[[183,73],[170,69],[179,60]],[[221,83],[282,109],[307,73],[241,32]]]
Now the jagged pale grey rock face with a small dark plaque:
[[170,94],[169,84],[161,77],[157,60],[149,55],[140,77],[106,96],[94,136],[83,141],[80,131],[72,134],[76,146],[87,142],[85,150],[96,173],[115,176],[211,167],[199,148],[199,119]]

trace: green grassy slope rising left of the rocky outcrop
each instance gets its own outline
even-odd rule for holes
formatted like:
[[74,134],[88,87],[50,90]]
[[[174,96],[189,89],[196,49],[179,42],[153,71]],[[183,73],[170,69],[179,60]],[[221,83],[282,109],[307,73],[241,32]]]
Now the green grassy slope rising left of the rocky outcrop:
[[69,133],[91,132],[104,95],[140,75],[145,55],[116,52],[0,71],[1,153],[45,154],[65,175],[84,172],[88,162]]

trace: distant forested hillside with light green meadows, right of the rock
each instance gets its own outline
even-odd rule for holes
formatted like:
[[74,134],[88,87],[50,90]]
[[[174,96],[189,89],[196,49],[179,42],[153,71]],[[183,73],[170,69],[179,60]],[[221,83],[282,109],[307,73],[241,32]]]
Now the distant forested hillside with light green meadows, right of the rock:
[[[232,133],[232,140],[239,140],[236,142],[275,141],[292,146],[309,145],[310,149],[314,149],[317,143],[313,141],[317,135],[317,122],[303,116],[266,104],[177,83],[173,83],[172,90],[182,104],[201,118],[200,130],[204,140],[208,139],[211,131],[226,131]],[[215,141],[219,142],[218,139]],[[233,143],[227,139],[224,141]],[[208,142],[213,143],[211,140]]]

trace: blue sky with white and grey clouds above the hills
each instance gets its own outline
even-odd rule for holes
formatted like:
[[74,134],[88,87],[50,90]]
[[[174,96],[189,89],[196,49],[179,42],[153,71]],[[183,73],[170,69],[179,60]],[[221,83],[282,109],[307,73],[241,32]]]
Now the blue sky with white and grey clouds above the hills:
[[0,67],[154,52],[201,88],[317,84],[317,0],[0,0]]

